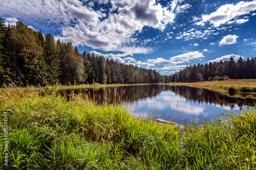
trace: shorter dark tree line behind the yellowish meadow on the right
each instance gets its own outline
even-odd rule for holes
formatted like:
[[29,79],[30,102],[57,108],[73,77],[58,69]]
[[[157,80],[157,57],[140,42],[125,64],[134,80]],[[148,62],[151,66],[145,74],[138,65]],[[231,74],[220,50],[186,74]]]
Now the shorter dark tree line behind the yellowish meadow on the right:
[[227,79],[256,79],[256,58],[252,57],[237,62],[231,57],[227,61],[194,64],[170,76],[170,82],[200,82]]

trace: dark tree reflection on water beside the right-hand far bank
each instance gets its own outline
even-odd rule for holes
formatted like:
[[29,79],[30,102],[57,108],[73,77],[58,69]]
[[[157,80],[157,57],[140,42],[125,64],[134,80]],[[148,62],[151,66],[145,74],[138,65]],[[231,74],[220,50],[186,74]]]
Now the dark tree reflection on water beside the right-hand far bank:
[[189,86],[172,86],[171,91],[179,94],[180,96],[183,96],[186,100],[193,100],[195,102],[198,101],[199,103],[206,102],[215,105],[219,104],[221,106],[230,106],[230,109],[233,109],[235,104],[238,104],[239,107],[242,107],[243,105],[253,106],[252,99],[231,98],[228,95],[202,88]]

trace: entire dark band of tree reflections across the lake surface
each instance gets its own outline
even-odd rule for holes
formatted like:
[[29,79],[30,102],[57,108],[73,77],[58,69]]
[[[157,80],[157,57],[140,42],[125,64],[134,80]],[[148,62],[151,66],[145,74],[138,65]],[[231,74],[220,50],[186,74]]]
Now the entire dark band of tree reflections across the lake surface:
[[[65,89],[59,90],[59,93],[70,94],[72,90]],[[74,89],[73,89],[74,91]],[[239,107],[243,105],[252,106],[252,99],[237,99],[231,98],[228,95],[221,94],[214,91],[209,91],[202,88],[195,88],[189,86],[169,86],[169,85],[135,85],[135,86],[119,86],[119,87],[96,87],[96,88],[81,88],[75,89],[74,93],[77,94],[81,92],[82,94],[87,94],[89,99],[97,101],[99,104],[108,103],[113,104],[114,102],[120,103],[122,101],[137,101],[143,98],[152,98],[161,91],[173,91],[176,95],[183,96],[186,100],[193,100],[206,102],[210,104],[218,104],[221,106],[230,106],[230,109],[234,108],[235,104]]]

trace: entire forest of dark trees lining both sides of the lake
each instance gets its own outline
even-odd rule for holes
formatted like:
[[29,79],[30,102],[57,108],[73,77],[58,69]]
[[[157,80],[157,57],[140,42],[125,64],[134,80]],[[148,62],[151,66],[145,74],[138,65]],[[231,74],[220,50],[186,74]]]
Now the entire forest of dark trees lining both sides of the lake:
[[256,58],[187,66],[171,76],[125,65],[117,60],[79,53],[71,42],[55,41],[22,21],[6,26],[0,17],[0,84],[22,81],[25,85],[134,84],[255,79]]

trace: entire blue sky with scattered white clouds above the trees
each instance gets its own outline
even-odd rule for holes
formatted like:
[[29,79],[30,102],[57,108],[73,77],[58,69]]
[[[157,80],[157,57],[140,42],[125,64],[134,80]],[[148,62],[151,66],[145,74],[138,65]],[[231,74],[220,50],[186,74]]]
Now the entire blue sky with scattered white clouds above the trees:
[[256,0],[2,0],[6,23],[124,64],[172,75],[187,65],[256,57]]

